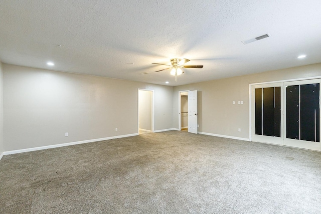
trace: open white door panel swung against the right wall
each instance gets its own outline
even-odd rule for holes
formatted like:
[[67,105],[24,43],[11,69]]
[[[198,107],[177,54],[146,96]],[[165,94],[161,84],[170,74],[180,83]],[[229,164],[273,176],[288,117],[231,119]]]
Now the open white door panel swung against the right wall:
[[188,119],[188,131],[194,134],[197,134],[197,91],[189,91],[189,119]]

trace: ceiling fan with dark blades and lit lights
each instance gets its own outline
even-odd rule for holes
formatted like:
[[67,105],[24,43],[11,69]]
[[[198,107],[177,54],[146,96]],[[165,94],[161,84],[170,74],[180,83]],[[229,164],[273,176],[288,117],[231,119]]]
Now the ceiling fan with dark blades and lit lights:
[[[173,58],[173,59],[171,59],[172,65],[161,64],[161,63],[152,63],[152,64],[169,66],[169,68],[162,69],[159,71],[164,71],[164,70],[171,68],[172,69],[171,75],[175,76],[175,82],[177,82],[177,76],[184,73],[182,68],[203,68],[202,65],[184,65],[185,63],[187,63],[189,61],[191,61],[191,60],[188,60],[185,58],[183,58],[183,59]],[[155,71],[155,72],[159,72],[159,71]]]

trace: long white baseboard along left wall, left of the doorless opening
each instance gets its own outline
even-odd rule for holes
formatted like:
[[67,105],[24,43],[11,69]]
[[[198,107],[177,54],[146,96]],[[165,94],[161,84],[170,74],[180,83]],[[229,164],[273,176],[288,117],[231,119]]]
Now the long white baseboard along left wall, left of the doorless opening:
[[29,151],[38,151],[38,150],[43,150],[43,149],[58,148],[58,147],[63,147],[63,146],[71,146],[71,145],[77,145],[77,144],[83,144],[83,143],[92,143],[92,142],[97,142],[97,141],[102,141],[102,140],[111,140],[111,139],[116,139],[116,138],[131,137],[131,136],[136,136],[136,135],[138,135],[138,133],[118,135],[118,136],[113,136],[113,137],[104,137],[104,138],[98,138],[98,139],[92,139],[92,140],[83,140],[83,141],[70,142],[70,143],[62,143],[62,144],[49,145],[49,146],[40,146],[40,147],[34,147],[34,148],[28,148],[28,149],[18,149],[18,150],[12,150],[12,151],[5,151],[2,153],[2,156],[8,155],[8,154],[18,154],[18,153],[29,152]]

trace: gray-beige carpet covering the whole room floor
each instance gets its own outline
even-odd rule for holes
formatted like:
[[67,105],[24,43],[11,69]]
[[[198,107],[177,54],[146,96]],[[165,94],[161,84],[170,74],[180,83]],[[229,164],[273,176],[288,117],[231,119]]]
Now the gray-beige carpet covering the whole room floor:
[[321,153],[168,131],[4,156],[1,213],[321,213]]

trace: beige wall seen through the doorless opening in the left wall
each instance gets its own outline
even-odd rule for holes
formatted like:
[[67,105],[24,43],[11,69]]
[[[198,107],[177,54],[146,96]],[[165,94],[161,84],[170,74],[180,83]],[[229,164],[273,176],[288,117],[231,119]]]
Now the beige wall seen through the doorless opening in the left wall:
[[152,130],[152,91],[139,90],[139,128]]

